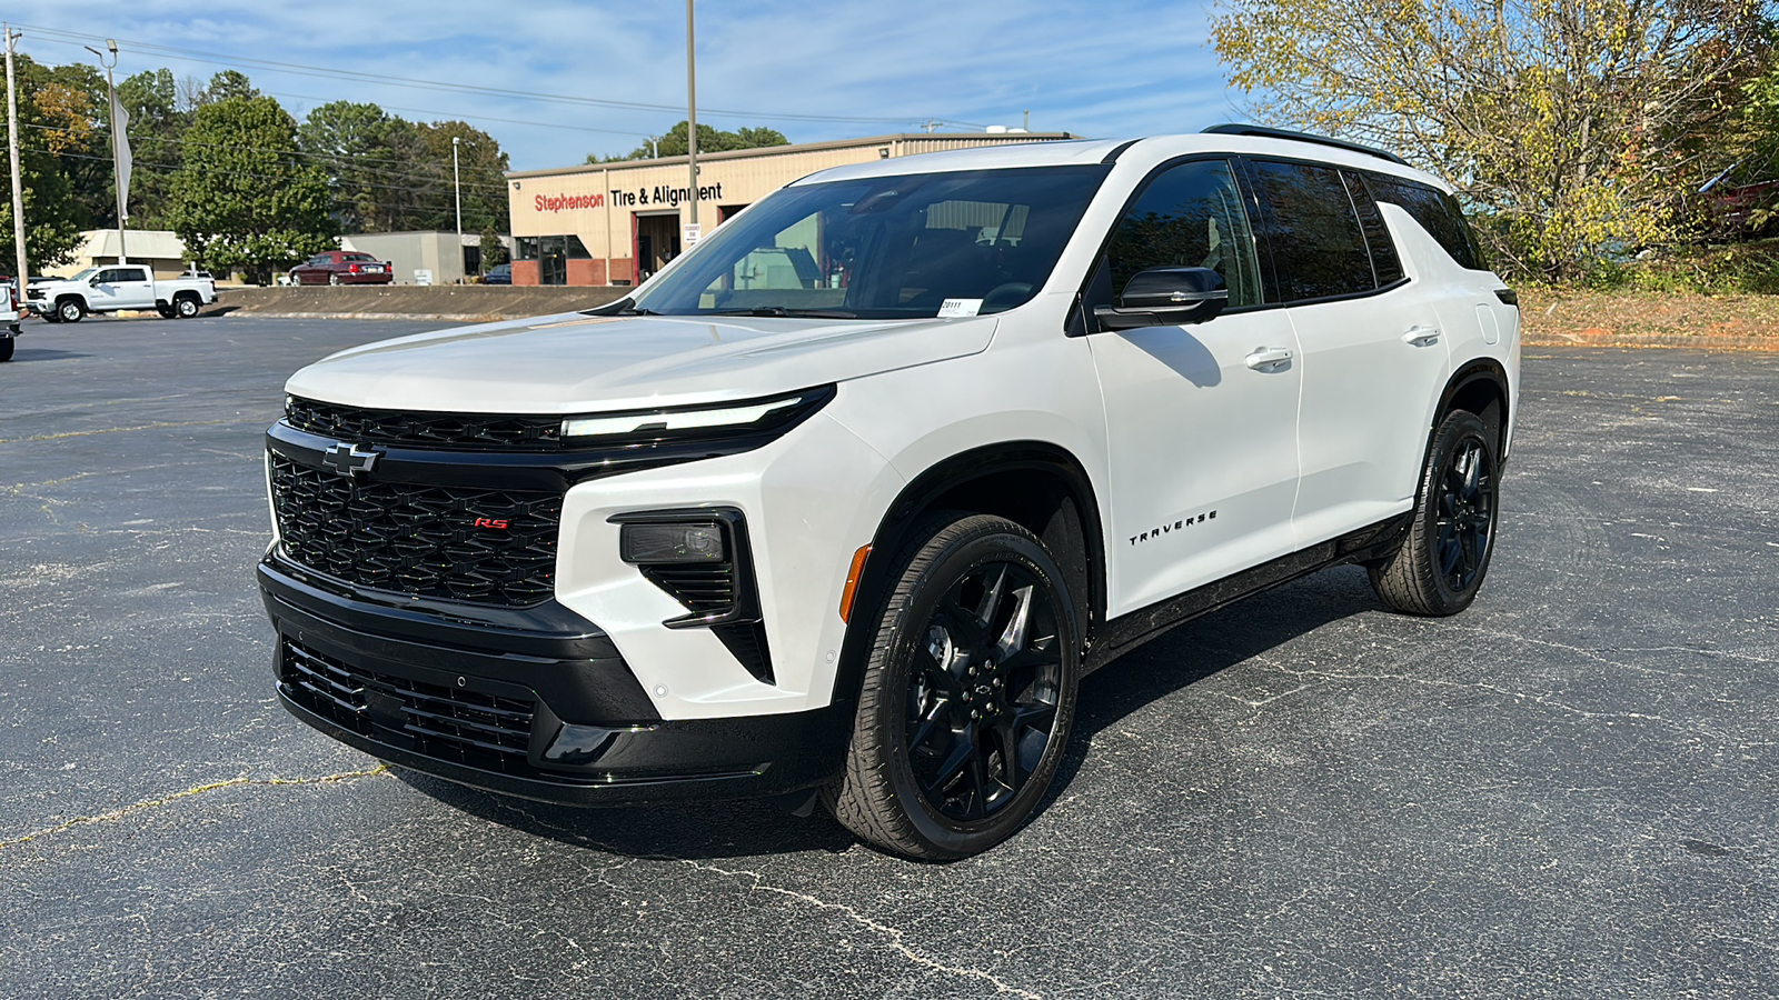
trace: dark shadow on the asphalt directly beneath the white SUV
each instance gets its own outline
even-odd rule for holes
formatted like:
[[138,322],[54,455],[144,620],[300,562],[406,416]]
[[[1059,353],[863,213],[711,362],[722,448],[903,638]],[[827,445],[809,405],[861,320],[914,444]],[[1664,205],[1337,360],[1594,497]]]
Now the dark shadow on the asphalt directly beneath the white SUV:
[[[1331,569],[1188,621],[1119,657],[1082,683],[1075,731],[1039,813],[1066,794],[1092,756],[1094,737],[1101,731],[1251,657],[1381,607],[1363,569]],[[480,792],[398,767],[393,774],[422,795],[482,820],[632,858],[694,861],[799,851],[838,854],[859,843],[820,806],[808,819],[795,819],[761,799],[576,808]]]

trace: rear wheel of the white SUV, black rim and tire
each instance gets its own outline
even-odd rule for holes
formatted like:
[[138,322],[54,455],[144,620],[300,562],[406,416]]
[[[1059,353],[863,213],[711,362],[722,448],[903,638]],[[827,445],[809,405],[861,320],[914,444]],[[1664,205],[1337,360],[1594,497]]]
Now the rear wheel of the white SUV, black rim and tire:
[[1434,431],[1402,548],[1370,568],[1372,589],[1404,614],[1469,607],[1489,573],[1500,520],[1500,463],[1475,413],[1452,411]]

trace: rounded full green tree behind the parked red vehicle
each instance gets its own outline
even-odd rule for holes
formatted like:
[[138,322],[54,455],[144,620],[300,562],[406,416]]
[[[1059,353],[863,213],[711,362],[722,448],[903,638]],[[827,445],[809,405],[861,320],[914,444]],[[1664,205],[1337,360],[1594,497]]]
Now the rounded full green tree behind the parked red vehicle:
[[295,119],[272,98],[197,109],[167,206],[192,260],[265,285],[274,269],[334,246],[327,176],[295,142]]

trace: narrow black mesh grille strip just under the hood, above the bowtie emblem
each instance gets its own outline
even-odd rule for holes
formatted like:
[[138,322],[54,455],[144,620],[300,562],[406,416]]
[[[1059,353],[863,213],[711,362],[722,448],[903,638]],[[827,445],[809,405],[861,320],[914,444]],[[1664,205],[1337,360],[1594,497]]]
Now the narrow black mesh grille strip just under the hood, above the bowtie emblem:
[[336,441],[464,452],[555,452],[562,418],[502,413],[411,413],[361,409],[290,397],[285,420],[297,431]]

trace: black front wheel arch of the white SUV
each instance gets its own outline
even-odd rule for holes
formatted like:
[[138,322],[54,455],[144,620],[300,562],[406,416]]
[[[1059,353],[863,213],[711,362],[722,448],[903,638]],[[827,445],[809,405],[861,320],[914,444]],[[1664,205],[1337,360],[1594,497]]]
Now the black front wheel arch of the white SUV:
[[890,578],[895,557],[932,511],[996,514],[1025,527],[1057,559],[1078,601],[1082,637],[1091,637],[1103,621],[1105,539],[1099,502],[1080,459],[1050,441],[1003,441],[957,452],[911,479],[877,523],[841,642],[833,701],[856,701],[873,616],[895,584]]

